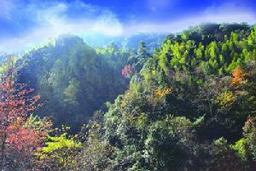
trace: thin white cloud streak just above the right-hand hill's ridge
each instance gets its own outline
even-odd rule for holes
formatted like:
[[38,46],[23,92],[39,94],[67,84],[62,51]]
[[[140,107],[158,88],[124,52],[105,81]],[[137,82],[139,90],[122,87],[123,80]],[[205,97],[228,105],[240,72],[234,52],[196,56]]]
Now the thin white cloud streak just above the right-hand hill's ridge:
[[[154,9],[155,10],[155,9]],[[131,34],[132,32],[166,32],[174,33],[183,31],[190,26],[197,26],[202,23],[241,23],[248,24],[256,23],[256,16],[253,9],[241,6],[234,2],[224,3],[222,5],[212,5],[197,14],[183,17],[180,20],[167,20],[164,23],[142,22],[135,25],[126,26],[125,32]]]

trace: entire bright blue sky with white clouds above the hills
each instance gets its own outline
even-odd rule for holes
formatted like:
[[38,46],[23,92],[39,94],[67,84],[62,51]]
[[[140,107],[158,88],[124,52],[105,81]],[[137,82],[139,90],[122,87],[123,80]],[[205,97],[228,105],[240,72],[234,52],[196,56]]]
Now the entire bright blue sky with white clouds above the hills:
[[254,0],[0,0],[0,52],[61,34],[177,32],[201,23],[256,23]]

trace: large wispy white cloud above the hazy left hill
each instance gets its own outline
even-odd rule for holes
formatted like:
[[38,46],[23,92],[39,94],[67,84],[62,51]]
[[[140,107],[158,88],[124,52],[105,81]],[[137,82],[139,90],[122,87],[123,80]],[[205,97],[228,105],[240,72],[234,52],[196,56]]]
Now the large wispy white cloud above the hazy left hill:
[[[9,7],[12,7],[10,4]],[[0,9],[3,9],[2,6]],[[32,47],[35,43],[42,43],[61,34],[83,36],[87,33],[101,33],[119,36],[123,33],[122,25],[113,12],[79,0],[73,3],[20,3],[19,7],[12,8],[19,12],[10,14],[8,8],[4,14],[0,14],[5,20],[12,20],[16,27],[20,27],[19,34],[14,33],[18,36],[1,39],[0,51],[7,53]],[[0,37],[3,37],[1,32]]]

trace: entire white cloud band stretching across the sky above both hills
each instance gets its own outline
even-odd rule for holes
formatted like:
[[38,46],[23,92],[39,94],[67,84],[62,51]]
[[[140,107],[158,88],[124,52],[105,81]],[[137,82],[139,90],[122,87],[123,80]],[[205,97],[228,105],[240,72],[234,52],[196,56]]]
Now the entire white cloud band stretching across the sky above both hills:
[[[83,37],[89,33],[118,37],[137,32],[177,32],[201,23],[247,22],[256,23],[255,13],[249,7],[241,6],[235,1],[222,5],[212,5],[193,15],[185,15],[182,19],[170,19],[165,22],[146,20],[120,21],[117,14],[108,8],[99,7],[81,0],[67,3],[56,0],[0,0],[0,52],[20,52],[57,37],[61,34],[74,34]],[[59,0],[60,1],[60,0]],[[158,13],[159,9],[168,6],[175,8],[176,1],[144,0],[148,8]],[[169,10],[169,9],[168,9]],[[6,37],[1,25],[9,26],[7,31],[12,36]],[[14,28],[14,29],[10,29]]]

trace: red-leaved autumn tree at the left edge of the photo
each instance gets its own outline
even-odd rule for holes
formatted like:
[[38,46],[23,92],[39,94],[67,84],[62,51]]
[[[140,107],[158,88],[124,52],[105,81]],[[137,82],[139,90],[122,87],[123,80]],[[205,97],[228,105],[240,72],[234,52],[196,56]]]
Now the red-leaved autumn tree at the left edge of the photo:
[[32,117],[40,104],[31,88],[16,84],[11,68],[0,83],[0,169],[30,169],[36,165],[34,154],[44,143],[51,122]]

